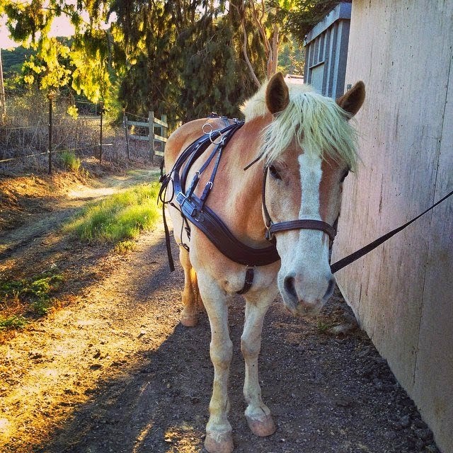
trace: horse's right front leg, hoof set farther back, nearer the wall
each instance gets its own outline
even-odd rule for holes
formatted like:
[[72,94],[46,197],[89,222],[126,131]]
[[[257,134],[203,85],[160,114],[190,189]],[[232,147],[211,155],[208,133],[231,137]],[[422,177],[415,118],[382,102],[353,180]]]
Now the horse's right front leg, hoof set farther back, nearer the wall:
[[268,406],[261,399],[261,388],[258,382],[258,355],[261,348],[261,331],[263,320],[275,294],[260,294],[260,298],[246,297],[246,316],[241,336],[241,350],[246,362],[246,379],[243,394],[248,404],[246,418],[253,434],[260,437],[275,432],[275,424]]

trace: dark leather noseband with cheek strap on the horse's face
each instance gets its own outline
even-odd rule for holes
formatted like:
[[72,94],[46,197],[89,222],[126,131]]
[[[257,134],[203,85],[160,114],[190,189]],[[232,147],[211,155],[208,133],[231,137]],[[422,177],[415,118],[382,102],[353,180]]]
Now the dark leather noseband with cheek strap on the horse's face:
[[289,231],[293,229],[316,229],[326,233],[329,239],[333,242],[333,239],[335,239],[337,234],[336,229],[322,220],[297,219],[288,220],[287,222],[274,223],[272,219],[270,219],[270,214],[268,212],[268,208],[266,207],[266,180],[268,178],[268,169],[269,166],[266,165],[264,167],[263,190],[261,191],[263,197],[263,213],[267,229],[266,239],[268,239],[268,241],[272,241],[274,234],[280,231]]

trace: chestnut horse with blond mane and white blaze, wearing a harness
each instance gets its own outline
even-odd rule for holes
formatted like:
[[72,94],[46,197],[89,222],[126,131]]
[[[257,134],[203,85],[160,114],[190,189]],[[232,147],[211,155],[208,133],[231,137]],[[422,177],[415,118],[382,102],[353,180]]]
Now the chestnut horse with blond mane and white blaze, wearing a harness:
[[[361,81],[335,101],[309,86],[287,85],[282,74],[276,74],[243,105],[243,126],[229,139],[222,160],[217,164],[212,160],[200,175],[200,183],[192,188],[198,197],[205,187],[211,189],[206,206],[244,246],[266,248],[273,236],[277,260],[254,268],[247,292],[243,288],[244,280],[250,277],[248,266],[227,258],[203,231],[184,219],[173,200],[176,185],[168,173],[173,192],[167,190],[166,201],[185,276],[180,321],[184,326],[195,326],[200,306],[205,307],[210,320],[214,384],[206,426],[208,452],[234,449],[228,421],[232,355],[228,302],[236,292],[245,292],[246,302],[241,336],[246,419],[255,435],[275,432],[258,382],[263,319],[278,292],[295,316],[318,314],[333,293],[329,246],[335,233],[331,231],[340,212],[343,180],[357,164],[357,134],[349,120],[364,99]],[[179,127],[166,144],[166,169],[172,168],[182,150],[200,135],[222,129],[225,122],[209,117]],[[222,135],[217,137],[188,170],[188,181],[222,140]],[[212,182],[210,168],[216,165]]]

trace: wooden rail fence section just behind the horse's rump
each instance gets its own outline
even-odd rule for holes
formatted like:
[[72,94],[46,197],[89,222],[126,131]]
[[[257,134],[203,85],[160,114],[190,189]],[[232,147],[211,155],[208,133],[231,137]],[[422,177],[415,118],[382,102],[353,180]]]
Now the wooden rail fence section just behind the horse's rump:
[[[161,115],[161,119],[154,117],[154,112],[149,112],[148,121],[130,121],[127,119],[126,111],[122,109],[122,124],[125,128],[127,159],[130,159],[129,141],[142,140],[149,142],[149,160],[154,162],[154,156],[164,156],[165,144],[168,135],[168,123],[166,115]],[[130,130],[130,127],[132,128]],[[137,130],[138,128],[138,130]],[[140,130],[147,130],[147,134],[139,134]],[[156,134],[159,130],[159,134]],[[132,132],[132,133],[131,133]]]

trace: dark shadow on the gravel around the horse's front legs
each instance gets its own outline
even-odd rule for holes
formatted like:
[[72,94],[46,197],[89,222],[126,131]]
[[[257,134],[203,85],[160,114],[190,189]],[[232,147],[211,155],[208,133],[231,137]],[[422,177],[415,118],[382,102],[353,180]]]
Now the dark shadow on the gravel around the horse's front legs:
[[[164,325],[169,313],[174,320],[173,304],[179,304],[174,287],[180,284],[180,273],[169,276],[166,264],[143,280],[147,296],[136,303],[161,311],[154,328]],[[137,294],[143,294],[142,289]],[[168,299],[163,301],[165,293]],[[336,323],[344,314],[350,316],[337,296],[321,321]],[[263,399],[273,411],[277,432],[254,437],[243,418],[239,297],[231,305],[230,319],[230,422],[236,453],[437,452],[432,433],[364,333],[328,336],[320,332],[318,321],[293,319],[278,301],[267,316],[260,357]],[[113,363],[121,367],[121,376],[98,382],[90,400],[75,407],[51,433],[50,442],[33,451],[202,452],[212,386],[209,342],[205,314],[195,328],[173,322],[171,334],[158,348]]]

